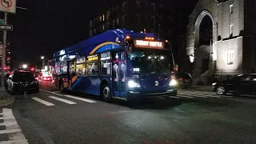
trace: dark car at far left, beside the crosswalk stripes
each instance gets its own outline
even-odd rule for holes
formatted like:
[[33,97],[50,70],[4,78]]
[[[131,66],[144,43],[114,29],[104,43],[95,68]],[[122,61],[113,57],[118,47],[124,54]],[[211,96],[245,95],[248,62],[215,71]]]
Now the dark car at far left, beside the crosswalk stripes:
[[16,94],[23,91],[34,93],[39,92],[38,80],[34,78],[34,75],[31,72],[14,72],[14,74],[10,74],[6,83],[6,89],[10,92],[10,94]]

